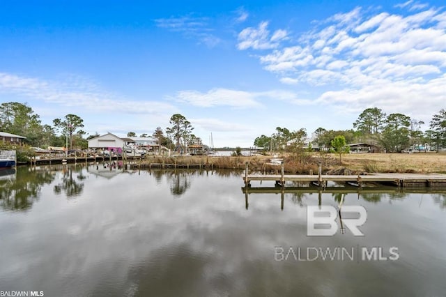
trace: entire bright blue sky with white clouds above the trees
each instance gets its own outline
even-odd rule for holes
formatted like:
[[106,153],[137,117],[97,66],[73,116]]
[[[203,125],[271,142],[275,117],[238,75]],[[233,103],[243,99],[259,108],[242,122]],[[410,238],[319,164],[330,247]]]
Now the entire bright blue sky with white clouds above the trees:
[[350,129],[368,107],[426,130],[446,108],[445,6],[3,0],[0,102],[118,136],[180,113],[215,146],[252,146],[277,126]]

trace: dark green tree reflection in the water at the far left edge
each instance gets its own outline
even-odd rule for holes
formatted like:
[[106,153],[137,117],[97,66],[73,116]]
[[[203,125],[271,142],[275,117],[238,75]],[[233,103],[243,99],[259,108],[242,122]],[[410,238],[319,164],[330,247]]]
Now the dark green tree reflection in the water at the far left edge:
[[18,167],[17,173],[3,176],[0,181],[0,208],[26,211],[39,199],[42,186],[52,183],[55,176],[52,167]]

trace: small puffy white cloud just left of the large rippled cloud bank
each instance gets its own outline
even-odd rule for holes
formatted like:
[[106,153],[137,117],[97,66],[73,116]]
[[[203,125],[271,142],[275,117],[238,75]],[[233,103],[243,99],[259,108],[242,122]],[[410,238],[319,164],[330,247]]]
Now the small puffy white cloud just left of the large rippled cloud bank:
[[248,27],[238,34],[238,50],[268,50],[279,46],[288,33],[279,29],[270,36],[268,22],[261,22],[257,28]]

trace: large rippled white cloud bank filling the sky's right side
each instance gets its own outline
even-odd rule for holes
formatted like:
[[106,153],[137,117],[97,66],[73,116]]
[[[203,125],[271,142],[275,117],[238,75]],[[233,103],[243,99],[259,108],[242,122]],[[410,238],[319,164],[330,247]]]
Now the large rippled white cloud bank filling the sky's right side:
[[417,1],[396,7],[405,13],[358,7],[314,22],[300,39],[289,39],[293,44],[270,47],[259,61],[283,84],[318,86],[300,104],[434,114],[446,102],[445,8]]

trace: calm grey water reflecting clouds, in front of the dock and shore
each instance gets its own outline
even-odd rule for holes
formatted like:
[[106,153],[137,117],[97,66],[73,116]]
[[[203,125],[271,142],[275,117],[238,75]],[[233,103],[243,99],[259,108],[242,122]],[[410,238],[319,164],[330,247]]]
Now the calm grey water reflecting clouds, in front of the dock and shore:
[[[307,236],[307,206],[318,205],[317,192],[285,193],[283,209],[280,193],[249,194],[246,201],[240,174],[230,172],[60,165],[0,175],[0,291],[446,294],[445,194],[346,194],[344,206],[367,210],[364,236],[346,229],[314,237]],[[337,206],[341,196],[323,192],[321,204]],[[363,249],[374,248],[381,260],[362,259]],[[353,257],[323,259],[327,249]]]

